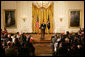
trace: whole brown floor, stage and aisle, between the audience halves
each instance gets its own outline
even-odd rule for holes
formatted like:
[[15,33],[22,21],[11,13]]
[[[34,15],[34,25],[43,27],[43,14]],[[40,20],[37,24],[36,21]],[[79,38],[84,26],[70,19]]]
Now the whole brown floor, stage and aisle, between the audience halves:
[[51,37],[53,34],[45,34],[45,39],[41,40],[41,34],[31,34],[34,39],[36,56],[52,56]]

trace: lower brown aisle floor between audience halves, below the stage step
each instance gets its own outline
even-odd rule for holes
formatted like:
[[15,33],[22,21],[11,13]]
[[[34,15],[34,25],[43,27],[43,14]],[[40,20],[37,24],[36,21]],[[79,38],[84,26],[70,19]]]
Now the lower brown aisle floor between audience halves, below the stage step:
[[36,56],[52,56],[52,48],[50,43],[34,44]]

